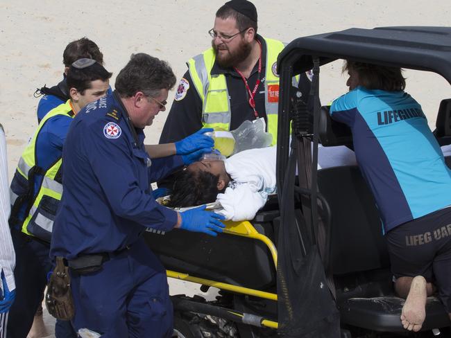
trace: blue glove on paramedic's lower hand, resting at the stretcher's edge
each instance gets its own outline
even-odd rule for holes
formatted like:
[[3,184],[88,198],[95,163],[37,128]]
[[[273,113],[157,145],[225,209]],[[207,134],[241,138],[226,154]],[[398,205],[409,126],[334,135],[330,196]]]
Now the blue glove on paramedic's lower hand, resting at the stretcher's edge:
[[199,206],[198,208],[181,212],[182,224],[180,224],[180,229],[207,233],[207,235],[212,236],[216,236],[216,233],[221,233],[225,225],[220,220],[223,220],[224,216],[212,211],[205,211],[205,207],[205,205]]

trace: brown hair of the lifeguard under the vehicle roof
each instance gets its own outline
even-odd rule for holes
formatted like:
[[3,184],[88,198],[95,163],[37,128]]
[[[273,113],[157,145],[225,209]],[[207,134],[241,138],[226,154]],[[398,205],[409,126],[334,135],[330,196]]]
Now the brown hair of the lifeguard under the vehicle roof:
[[406,87],[406,79],[402,76],[402,69],[398,67],[346,60],[343,64],[343,73],[350,69],[357,72],[359,84],[366,89],[400,91]]

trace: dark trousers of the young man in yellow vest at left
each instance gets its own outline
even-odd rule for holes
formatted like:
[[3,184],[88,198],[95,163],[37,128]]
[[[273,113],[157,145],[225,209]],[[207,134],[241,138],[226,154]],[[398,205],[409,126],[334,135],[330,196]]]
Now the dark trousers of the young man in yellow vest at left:
[[[11,235],[16,252],[16,297],[9,312],[7,337],[26,338],[42,302],[47,274],[52,269],[50,247],[15,229],[11,229]],[[56,338],[77,337],[70,321],[56,321],[55,335]]]

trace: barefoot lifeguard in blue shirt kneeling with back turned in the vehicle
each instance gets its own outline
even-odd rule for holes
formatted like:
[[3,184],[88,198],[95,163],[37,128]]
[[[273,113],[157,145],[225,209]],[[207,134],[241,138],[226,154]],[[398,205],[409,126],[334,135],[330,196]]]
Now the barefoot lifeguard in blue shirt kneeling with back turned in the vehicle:
[[404,91],[401,69],[360,62],[344,69],[350,91],[330,114],[352,131],[384,225],[395,290],[407,298],[402,325],[418,331],[432,283],[451,319],[451,171],[421,106]]

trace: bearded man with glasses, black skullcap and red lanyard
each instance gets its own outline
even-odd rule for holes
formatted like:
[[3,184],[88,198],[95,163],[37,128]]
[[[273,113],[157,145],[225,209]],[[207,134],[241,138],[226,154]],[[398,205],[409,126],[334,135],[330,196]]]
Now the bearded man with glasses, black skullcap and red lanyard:
[[[257,10],[246,0],[228,1],[219,8],[208,33],[212,48],[187,62],[160,143],[178,141],[201,127],[235,130],[244,121],[261,117],[275,144],[276,64],[284,44],[257,35]],[[307,100],[307,74],[293,78],[293,85],[298,87],[297,95]]]

